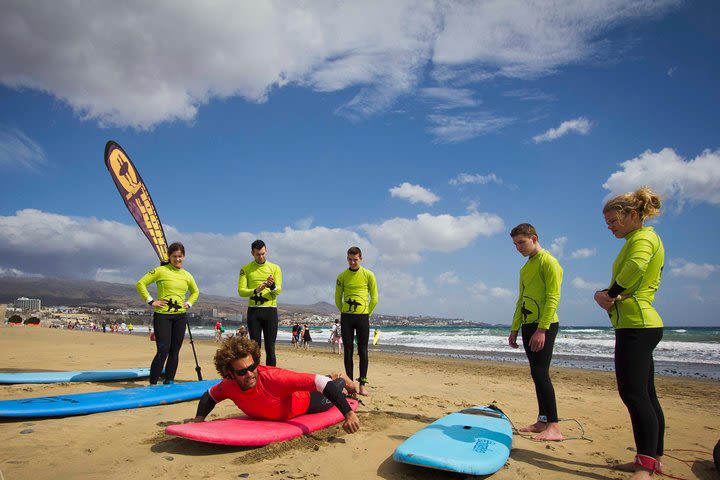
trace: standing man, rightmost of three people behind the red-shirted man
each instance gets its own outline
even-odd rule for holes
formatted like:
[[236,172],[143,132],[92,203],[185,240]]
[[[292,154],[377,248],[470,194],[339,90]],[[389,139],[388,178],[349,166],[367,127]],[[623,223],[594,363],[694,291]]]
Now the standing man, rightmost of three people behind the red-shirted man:
[[[357,332],[360,357],[360,395],[367,395],[368,341],[370,339],[370,315],[378,303],[375,274],[360,266],[362,252],[350,247],[347,252],[348,269],[338,275],[335,284],[335,305],[340,310],[340,328],[345,355],[345,374],[353,378],[353,337]],[[368,301],[368,296],[370,297]]]

